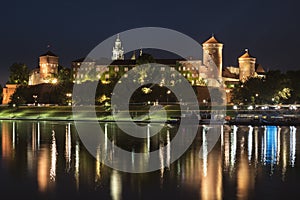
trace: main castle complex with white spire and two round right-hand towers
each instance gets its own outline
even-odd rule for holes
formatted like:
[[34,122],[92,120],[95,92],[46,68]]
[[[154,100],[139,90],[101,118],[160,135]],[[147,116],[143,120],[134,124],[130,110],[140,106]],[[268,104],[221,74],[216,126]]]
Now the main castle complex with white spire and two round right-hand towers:
[[[246,49],[245,53],[238,58],[239,66],[223,66],[223,44],[220,43],[214,36],[209,38],[202,44],[203,48],[203,60],[192,59],[156,59],[155,62],[171,67],[179,71],[186,79],[190,81],[192,85],[211,85],[213,83],[207,83],[207,74],[210,69],[217,67],[217,75],[215,78],[222,77],[223,83],[227,85],[237,84],[245,82],[251,77],[264,77],[265,71],[261,65],[256,63],[256,58],[249,54]],[[142,50],[140,51],[140,56]],[[90,58],[81,58],[72,61],[72,71],[74,80],[78,83],[85,81],[86,77],[83,74],[79,74],[79,68],[85,68],[83,71],[88,71],[92,68],[96,69],[97,79],[109,80],[112,78],[112,73],[125,74],[129,69],[137,65],[135,52],[130,59],[124,59],[124,50],[119,34],[117,35],[115,45],[112,50],[112,62],[107,65],[107,62],[92,60]],[[102,74],[102,77],[100,77]],[[104,80],[104,81],[105,81]],[[203,83],[203,80],[206,83]]]

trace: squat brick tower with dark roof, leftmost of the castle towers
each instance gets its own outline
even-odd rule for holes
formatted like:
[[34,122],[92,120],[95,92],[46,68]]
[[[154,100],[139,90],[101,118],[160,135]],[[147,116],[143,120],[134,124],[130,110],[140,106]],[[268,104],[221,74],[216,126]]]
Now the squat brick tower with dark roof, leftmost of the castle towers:
[[39,66],[40,78],[52,78],[54,75],[58,74],[58,56],[51,51],[40,55]]

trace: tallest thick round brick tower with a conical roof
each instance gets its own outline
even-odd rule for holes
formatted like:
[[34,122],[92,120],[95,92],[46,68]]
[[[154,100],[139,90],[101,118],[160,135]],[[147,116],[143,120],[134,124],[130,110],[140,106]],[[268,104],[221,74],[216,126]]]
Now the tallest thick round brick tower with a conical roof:
[[218,77],[222,77],[223,66],[223,44],[218,42],[214,36],[202,44],[203,64],[208,67],[216,66]]

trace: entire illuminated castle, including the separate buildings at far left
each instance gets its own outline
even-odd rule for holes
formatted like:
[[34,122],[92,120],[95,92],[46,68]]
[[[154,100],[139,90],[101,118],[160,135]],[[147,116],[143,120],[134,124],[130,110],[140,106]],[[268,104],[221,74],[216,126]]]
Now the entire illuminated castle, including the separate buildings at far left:
[[[223,66],[223,44],[219,42],[214,36],[210,37],[202,44],[203,60],[192,59],[156,59],[155,62],[161,64],[161,70],[164,70],[165,65],[169,66],[171,70],[180,72],[193,86],[211,86],[217,87],[207,77],[207,74],[213,67],[217,67],[216,78],[222,77],[222,82],[225,85],[226,93],[235,84],[243,83],[251,77],[264,77],[265,71],[261,65],[256,63],[256,58],[249,54],[246,49],[245,53],[238,58],[239,66]],[[140,50],[139,56],[143,52]],[[110,63],[108,66],[107,64]],[[124,58],[124,49],[120,39],[117,35],[115,44],[112,49],[112,57],[109,62],[97,61],[89,58],[81,58],[72,61],[71,70],[74,81],[76,83],[91,79],[82,73],[81,70],[90,71],[95,69],[95,80],[101,80],[102,83],[108,83],[112,76],[126,75],[126,72],[137,65],[135,52],[130,59]],[[42,83],[56,84],[58,79],[59,57],[51,51],[39,56],[39,67],[32,70],[29,74],[29,85],[38,85]],[[85,68],[85,69],[82,69]],[[15,91],[16,86],[8,85],[3,88],[3,104],[9,102],[9,97]],[[229,100],[230,102],[230,100]]]

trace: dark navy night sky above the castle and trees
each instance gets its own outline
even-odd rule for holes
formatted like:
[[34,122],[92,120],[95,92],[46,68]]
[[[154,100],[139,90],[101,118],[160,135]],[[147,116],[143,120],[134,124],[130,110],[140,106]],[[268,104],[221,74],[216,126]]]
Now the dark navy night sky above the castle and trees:
[[[266,69],[300,69],[297,0],[39,0],[2,1],[0,83],[9,66],[38,66],[47,45],[60,64],[87,55],[98,43],[128,29],[154,26],[182,32],[199,43],[212,33],[224,43],[224,65],[237,65],[245,48]],[[176,42],[176,41],[175,41]],[[126,48],[126,46],[124,46]]]

